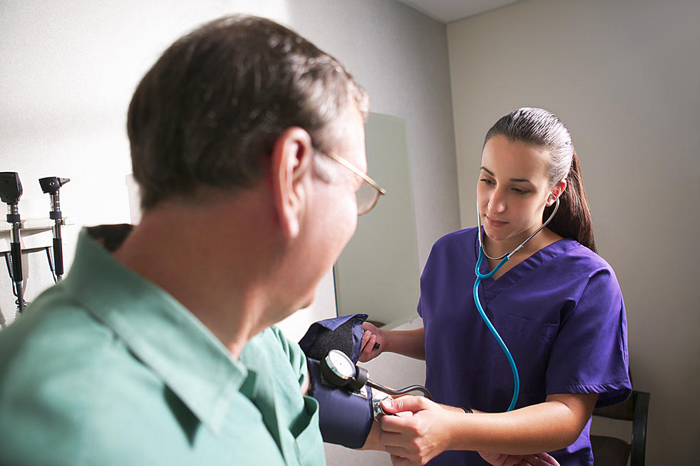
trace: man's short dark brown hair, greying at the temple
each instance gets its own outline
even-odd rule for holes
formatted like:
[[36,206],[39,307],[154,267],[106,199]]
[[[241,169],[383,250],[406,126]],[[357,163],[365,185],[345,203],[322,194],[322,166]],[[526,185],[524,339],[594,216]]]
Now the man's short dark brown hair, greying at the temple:
[[252,186],[290,126],[323,151],[353,101],[366,115],[366,93],[339,61],[274,21],[236,15],[201,26],[164,52],[131,99],[142,208],[198,186]]

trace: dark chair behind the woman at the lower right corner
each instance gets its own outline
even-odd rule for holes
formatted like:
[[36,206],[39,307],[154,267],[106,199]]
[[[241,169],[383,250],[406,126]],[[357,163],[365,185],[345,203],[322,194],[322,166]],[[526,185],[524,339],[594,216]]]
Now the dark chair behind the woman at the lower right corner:
[[648,392],[632,391],[632,395],[618,405],[599,407],[594,416],[632,422],[632,442],[616,437],[591,435],[595,466],[644,466],[646,452],[646,417],[649,411]]

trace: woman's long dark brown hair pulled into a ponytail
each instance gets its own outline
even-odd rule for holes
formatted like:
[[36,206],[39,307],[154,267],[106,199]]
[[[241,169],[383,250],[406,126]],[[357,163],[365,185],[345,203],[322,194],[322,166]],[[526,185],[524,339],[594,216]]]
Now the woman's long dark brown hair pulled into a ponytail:
[[[566,178],[566,189],[559,196],[559,211],[547,226],[564,238],[573,238],[596,251],[591,208],[586,201],[581,166],[569,128],[554,113],[542,108],[518,108],[496,121],[486,133],[484,146],[494,136],[521,141],[549,154],[549,188]],[[544,209],[542,221],[554,206]]]

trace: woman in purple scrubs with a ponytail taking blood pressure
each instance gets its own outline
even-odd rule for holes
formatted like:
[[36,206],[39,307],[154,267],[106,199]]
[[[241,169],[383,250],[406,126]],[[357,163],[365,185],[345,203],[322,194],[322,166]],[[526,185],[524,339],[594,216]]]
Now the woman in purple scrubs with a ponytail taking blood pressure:
[[[491,258],[537,231],[559,199],[546,228],[479,285],[519,372],[516,405],[505,412],[514,376],[474,303],[477,229],[456,231],[434,244],[421,276],[424,328],[365,324],[360,360],[383,351],[425,359],[439,403],[401,397],[385,405],[401,415],[382,418],[381,442],[394,465],[592,465],[591,412],[625,400],[631,383],[624,302],[596,254],[569,129],[539,108],[499,119],[484,140],[476,198]],[[481,273],[498,263],[483,260]]]

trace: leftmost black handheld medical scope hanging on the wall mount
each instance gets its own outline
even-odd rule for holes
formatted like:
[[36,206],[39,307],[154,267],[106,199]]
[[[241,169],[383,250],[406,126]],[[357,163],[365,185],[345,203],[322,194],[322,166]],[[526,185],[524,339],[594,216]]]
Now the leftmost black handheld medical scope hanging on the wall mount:
[[22,290],[22,248],[19,242],[19,198],[22,196],[22,183],[19,175],[14,171],[0,173],[0,198],[7,204],[7,223],[12,226],[10,233],[10,255],[5,255],[8,260],[8,271],[14,283],[14,295],[17,297],[17,310],[24,310],[24,290]]

